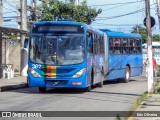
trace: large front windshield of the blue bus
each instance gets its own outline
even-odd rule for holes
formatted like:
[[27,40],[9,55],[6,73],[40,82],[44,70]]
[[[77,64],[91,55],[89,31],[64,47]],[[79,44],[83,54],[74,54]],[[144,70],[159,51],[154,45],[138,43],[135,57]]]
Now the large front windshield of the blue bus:
[[84,61],[83,36],[32,36],[30,60],[48,65],[71,65]]

